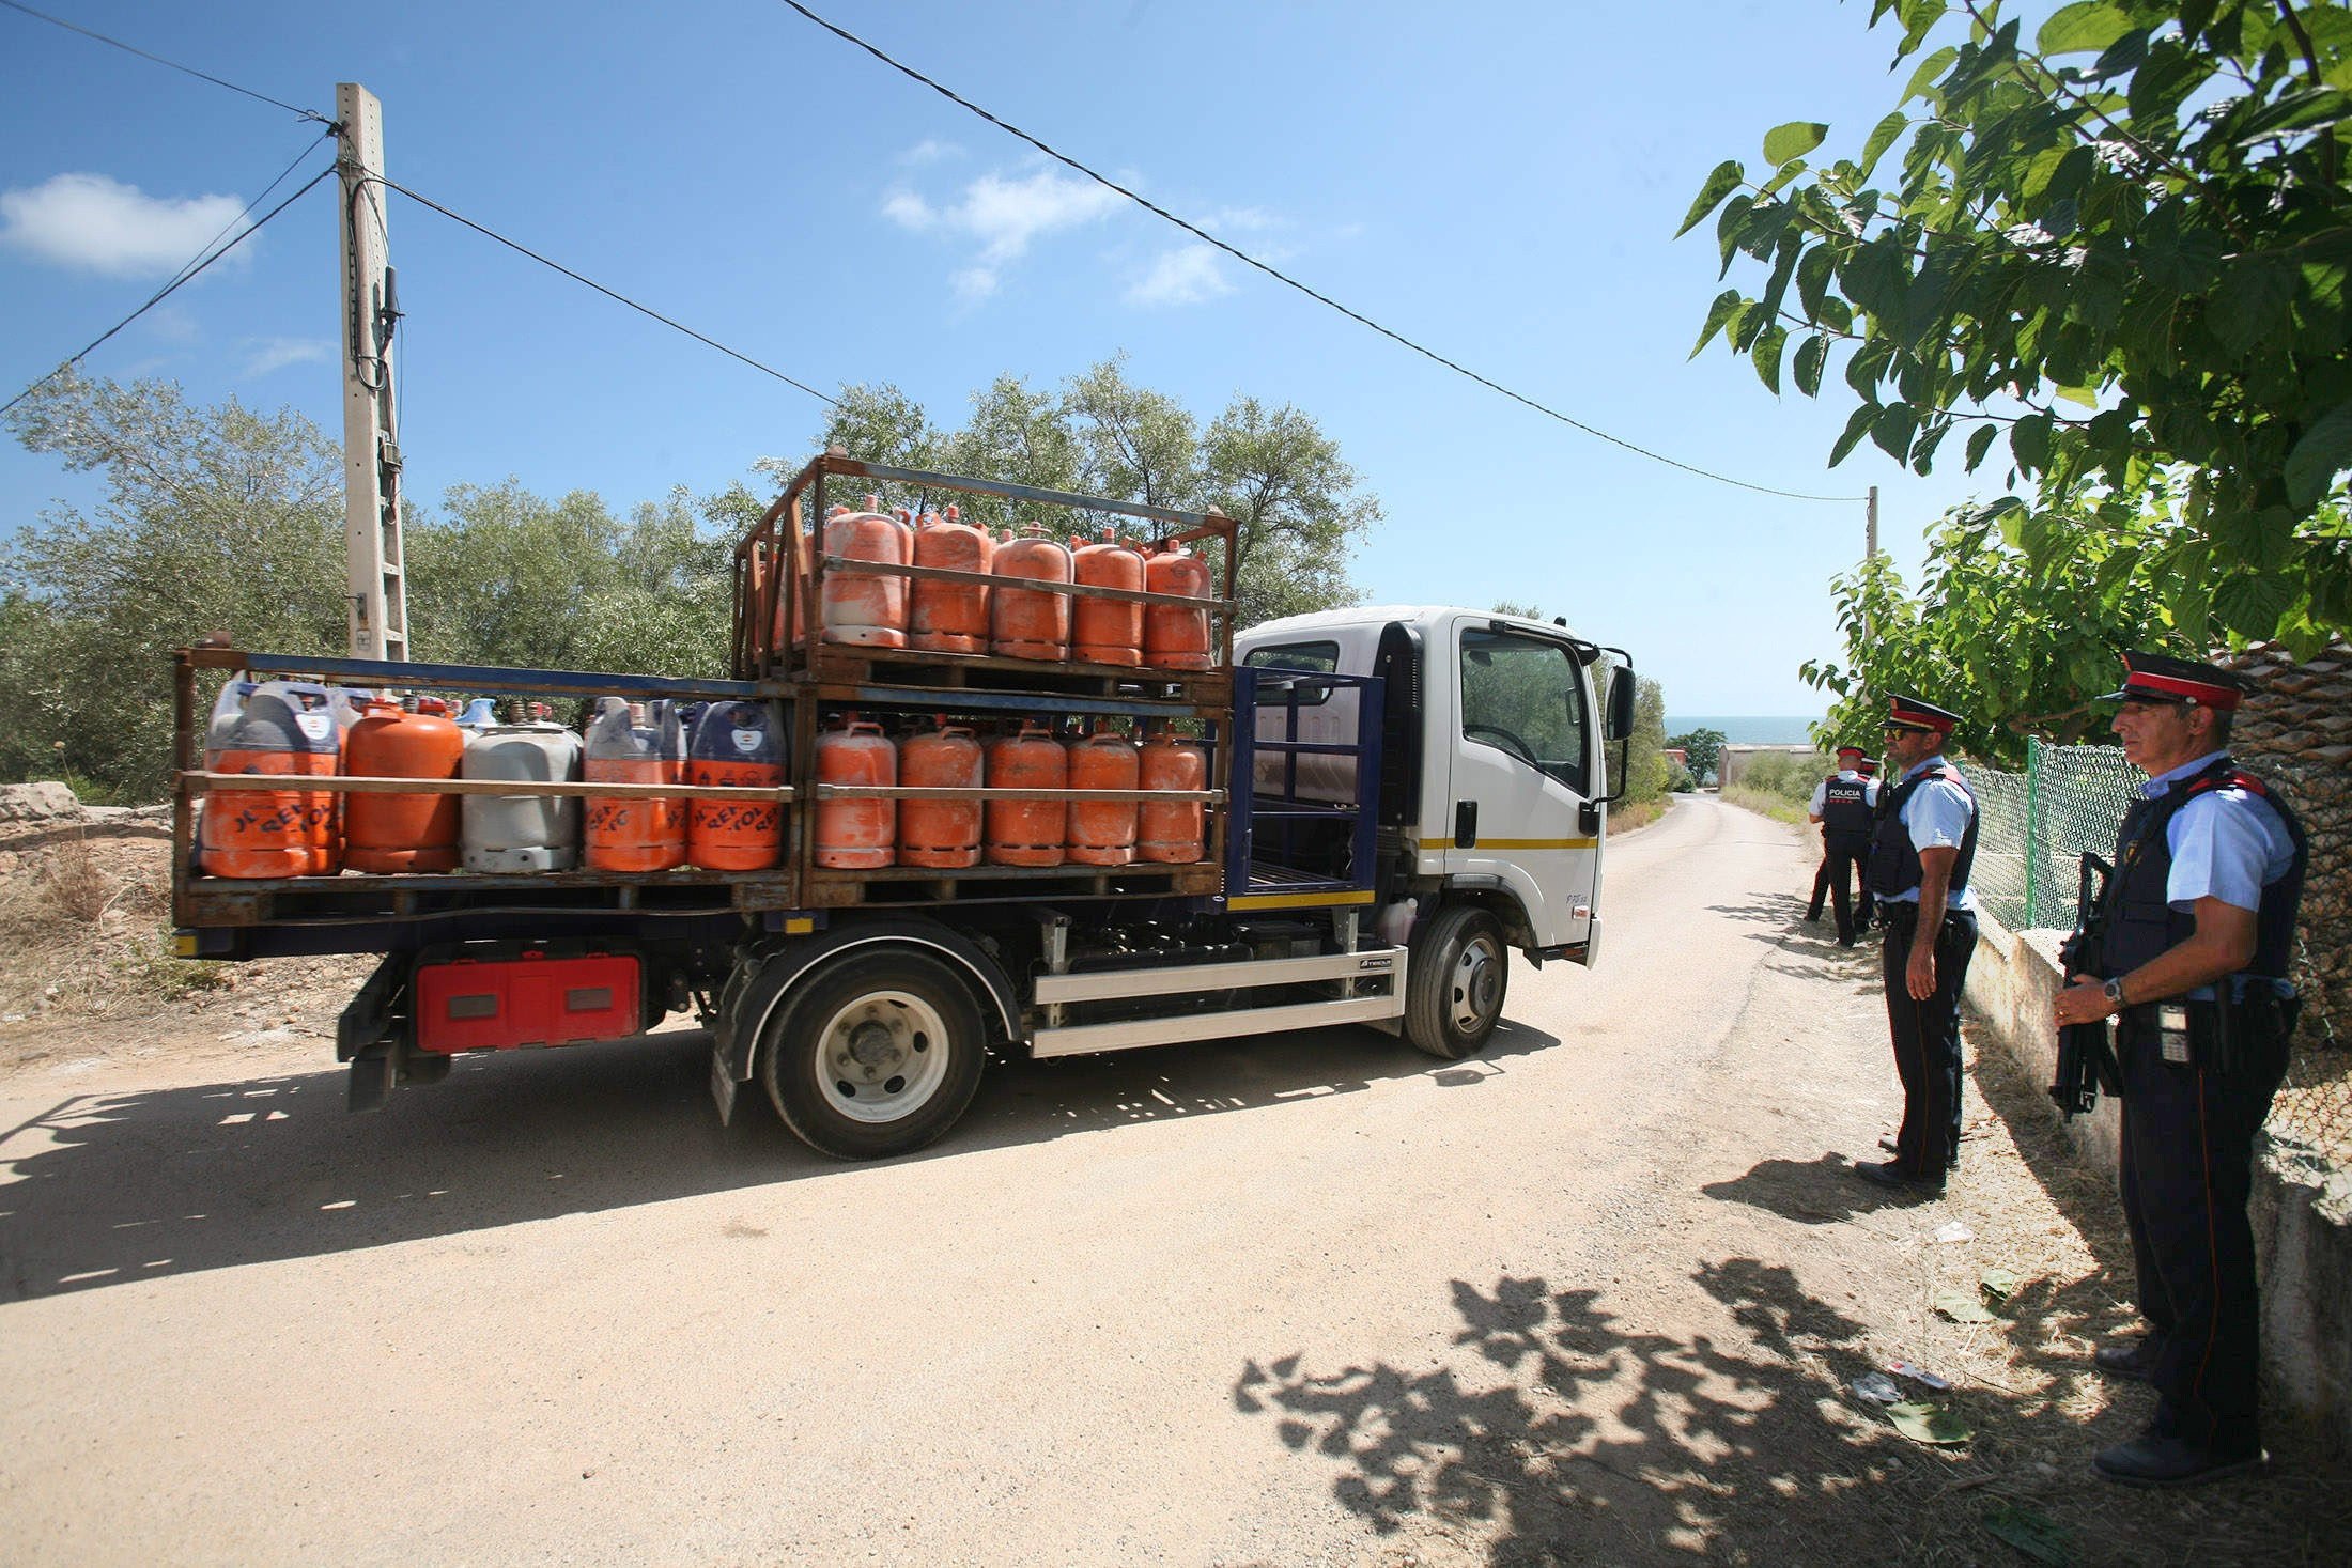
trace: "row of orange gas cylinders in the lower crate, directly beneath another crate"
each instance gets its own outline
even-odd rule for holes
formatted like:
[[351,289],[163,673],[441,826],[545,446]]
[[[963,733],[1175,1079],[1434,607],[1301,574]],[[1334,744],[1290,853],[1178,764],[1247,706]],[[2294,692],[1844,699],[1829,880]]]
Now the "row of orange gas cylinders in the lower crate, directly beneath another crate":
[[[842,790],[1207,790],[1207,752],[1164,722],[1131,736],[1105,722],[1054,733],[1035,719],[981,736],[936,717],[891,736],[842,715],[816,736],[816,783]],[[1202,802],[875,799],[816,802],[816,863],[1192,865],[1207,853]]]

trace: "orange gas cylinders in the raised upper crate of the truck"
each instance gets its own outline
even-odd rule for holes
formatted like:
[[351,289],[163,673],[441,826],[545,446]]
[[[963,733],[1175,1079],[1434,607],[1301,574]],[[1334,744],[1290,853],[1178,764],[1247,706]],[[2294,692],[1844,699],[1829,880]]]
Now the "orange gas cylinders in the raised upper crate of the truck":
[[990,536],[953,505],[917,522],[903,508],[884,512],[880,498],[868,496],[866,510],[833,508],[823,550],[842,562],[990,578],[950,583],[830,567],[818,595],[818,635],[826,642],[1148,670],[1207,670],[1216,661],[1207,609],[1023,588],[1075,583],[1204,599],[1209,564],[1181,543],[1143,548],[1108,527],[1096,541],[1070,543],[1054,538],[1044,524]]

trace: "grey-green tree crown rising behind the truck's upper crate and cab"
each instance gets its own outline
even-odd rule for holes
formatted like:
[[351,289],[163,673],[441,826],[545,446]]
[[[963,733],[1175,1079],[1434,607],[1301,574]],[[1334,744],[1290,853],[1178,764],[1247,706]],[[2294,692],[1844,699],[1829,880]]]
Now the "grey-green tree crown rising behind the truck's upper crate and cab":
[[[1338,442],[1296,407],[1235,397],[1207,428],[1164,393],[1136,386],[1124,355],[1070,376],[1058,393],[997,376],[971,395],[971,416],[941,430],[889,383],[842,388],[818,437],[868,463],[943,468],[981,480],[1084,491],[1232,517],[1240,625],[1352,604],[1348,559],[1381,520],[1381,503],[1341,458]],[[781,463],[767,463],[781,470]],[[985,496],[894,496],[915,508],[955,501],[974,522],[1068,524],[1061,508]],[[1105,515],[1101,522],[1122,522]]]

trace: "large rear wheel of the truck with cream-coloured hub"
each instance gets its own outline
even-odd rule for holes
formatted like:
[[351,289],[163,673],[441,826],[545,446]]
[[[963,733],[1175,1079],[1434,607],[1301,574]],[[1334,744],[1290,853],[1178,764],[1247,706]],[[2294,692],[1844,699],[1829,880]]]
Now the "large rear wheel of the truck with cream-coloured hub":
[[760,1081],[818,1154],[884,1159],[955,1126],[985,1058],[988,1030],[962,976],[882,950],[795,985],[760,1041]]

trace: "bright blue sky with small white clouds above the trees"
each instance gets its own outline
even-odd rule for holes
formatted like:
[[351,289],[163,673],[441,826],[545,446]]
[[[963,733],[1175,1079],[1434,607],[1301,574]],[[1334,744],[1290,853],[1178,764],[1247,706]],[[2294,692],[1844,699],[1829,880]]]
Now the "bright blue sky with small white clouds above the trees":
[[[42,9],[325,113],[339,80],[365,82],[393,179],[816,388],[894,381],[960,423],[1002,371],[1054,386],[1124,350],[1202,418],[1235,393],[1294,402],[1388,512],[1355,562],[1374,602],[1534,599],[1630,646],[1672,712],[1823,708],[1797,665],[1837,654],[1825,583],[1860,557],[1858,501],[1729,489],[1519,409],[1197,252],[774,0]],[[1684,357],[1722,287],[1708,228],[1672,240],[1705,172],[1757,167],[1764,132],[1799,118],[1851,153],[1893,106],[1893,35],[1863,26],[1865,0],[816,9],[1576,418],[1780,489],[1879,484],[1905,569],[1985,489],[1957,461],[1917,480],[1870,447],[1832,473],[1849,404],[1776,400],[1719,348]],[[0,400],[146,299],[315,132],[0,12]],[[339,433],[329,190],[89,371]],[[390,240],[426,503],[515,475],[628,505],[814,449],[804,393],[397,197]],[[0,451],[0,529],[87,494]]]

